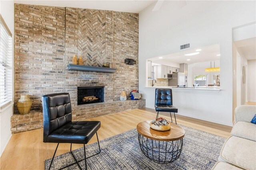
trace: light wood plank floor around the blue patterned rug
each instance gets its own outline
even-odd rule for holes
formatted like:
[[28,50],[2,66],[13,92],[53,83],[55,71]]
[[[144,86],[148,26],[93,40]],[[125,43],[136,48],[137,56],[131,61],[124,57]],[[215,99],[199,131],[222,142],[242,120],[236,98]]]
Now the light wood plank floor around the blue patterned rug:
[[[160,113],[160,116],[170,120],[170,115],[168,113]],[[144,108],[113,113],[87,120],[101,121],[101,128],[98,131],[98,137],[99,140],[102,140],[134,129],[139,122],[152,120],[155,119],[155,117],[156,112],[153,109]],[[229,126],[180,115],[177,115],[176,118],[179,124],[222,137],[228,137],[232,129]],[[44,170],[44,160],[52,158],[57,144],[43,143],[42,141],[42,129],[12,135],[1,156],[1,170]],[[96,141],[96,136],[94,136],[88,144]],[[78,149],[82,146],[83,145],[74,144],[72,145],[72,149]],[[69,149],[70,144],[60,144],[56,155],[69,152]]]

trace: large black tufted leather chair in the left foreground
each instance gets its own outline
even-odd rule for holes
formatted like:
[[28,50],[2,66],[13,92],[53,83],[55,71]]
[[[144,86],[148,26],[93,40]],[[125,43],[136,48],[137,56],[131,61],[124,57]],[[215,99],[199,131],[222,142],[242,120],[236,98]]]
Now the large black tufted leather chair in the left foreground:
[[[68,93],[49,94],[42,96],[42,105],[44,117],[44,142],[58,143],[56,150],[58,149],[59,143],[70,143],[70,153],[76,161],[73,164],[77,164],[78,167],[82,170],[78,162],[85,160],[86,167],[86,159],[90,158],[91,156],[86,158],[85,144],[90,141],[95,133],[98,140],[97,131],[100,129],[100,121],[72,121],[72,110],[70,96]],[[84,144],[85,159],[80,161],[76,160],[74,154],[71,151],[72,143]],[[100,153],[99,140],[98,146],[99,152],[96,154]],[[56,150],[52,157],[52,161],[56,154]],[[51,168],[52,161],[49,170]],[[64,168],[67,168],[68,166]]]

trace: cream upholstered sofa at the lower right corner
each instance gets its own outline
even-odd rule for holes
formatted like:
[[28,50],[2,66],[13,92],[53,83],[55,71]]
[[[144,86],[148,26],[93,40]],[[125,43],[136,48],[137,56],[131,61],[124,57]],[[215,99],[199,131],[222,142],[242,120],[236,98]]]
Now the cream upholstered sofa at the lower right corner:
[[219,161],[212,170],[256,170],[256,124],[250,123],[256,106],[235,109],[235,124],[222,146]]

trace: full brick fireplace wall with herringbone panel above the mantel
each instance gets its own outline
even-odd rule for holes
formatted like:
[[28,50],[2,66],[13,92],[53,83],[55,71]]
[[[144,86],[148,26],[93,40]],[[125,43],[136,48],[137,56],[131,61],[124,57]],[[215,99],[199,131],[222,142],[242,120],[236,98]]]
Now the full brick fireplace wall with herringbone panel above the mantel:
[[[105,102],[138,89],[138,14],[26,4],[15,4],[14,13],[15,104],[30,94],[38,109],[42,95],[68,92],[77,106],[78,86],[105,86]],[[116,72],[67,70],[74,54],[84,65],[110,62]],[[126,58],[136,65],[124,64]]]

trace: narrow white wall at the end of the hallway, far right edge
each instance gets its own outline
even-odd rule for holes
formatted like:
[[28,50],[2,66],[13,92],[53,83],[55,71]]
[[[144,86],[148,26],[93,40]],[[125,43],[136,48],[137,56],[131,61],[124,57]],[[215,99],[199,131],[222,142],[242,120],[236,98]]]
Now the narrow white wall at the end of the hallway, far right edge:
[[256,102],[256,60],[248,60],[248,102]]

